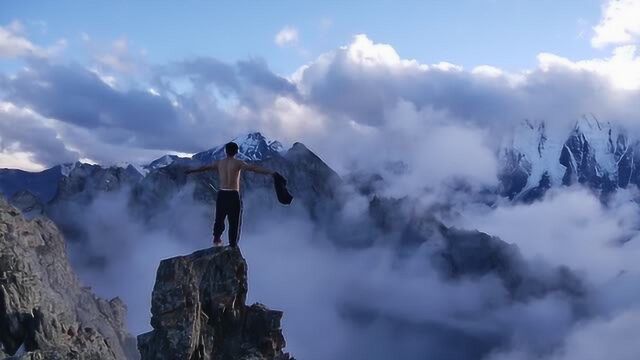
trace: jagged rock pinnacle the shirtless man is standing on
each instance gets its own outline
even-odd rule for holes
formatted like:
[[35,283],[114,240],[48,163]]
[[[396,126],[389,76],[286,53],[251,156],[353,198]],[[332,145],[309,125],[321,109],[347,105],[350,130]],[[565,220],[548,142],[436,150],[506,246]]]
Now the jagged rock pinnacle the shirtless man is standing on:
[[138,336],[143,360],[292,360],[282,312],[245,305],[247,264],[230,247],[163,260],[151,300],[153,331]]

